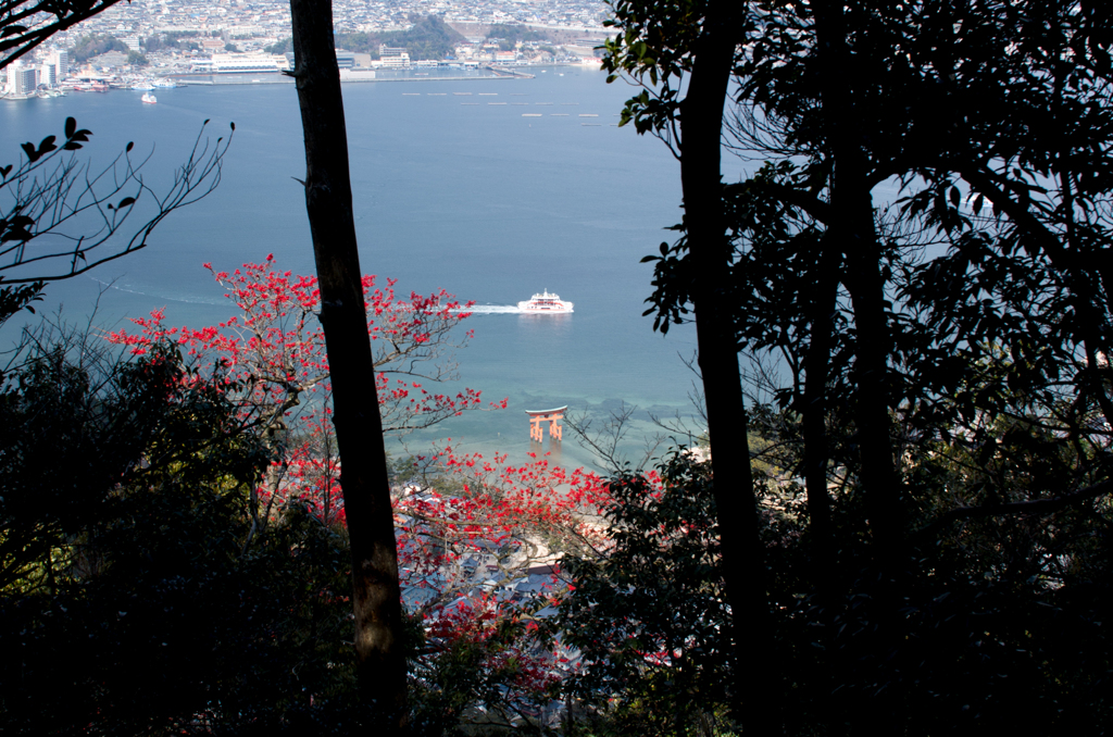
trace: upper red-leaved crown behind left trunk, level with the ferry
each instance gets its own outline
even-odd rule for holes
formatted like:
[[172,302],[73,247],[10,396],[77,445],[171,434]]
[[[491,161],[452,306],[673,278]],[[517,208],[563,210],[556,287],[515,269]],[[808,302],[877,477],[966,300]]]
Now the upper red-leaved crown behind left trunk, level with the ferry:
[[[285,429],[289,413],[306,395],[324,390],[318,403],[327,405],[328,360],[316,315],[321,306],[317,279],[294,276],[274,268],[274,255],[264,264],[245,264],[233,273],[205,264],[240,314],[219,325],[199,330],[168,327],[165,312],[137,318],[139,333],[118,331],[116,343],[145,353],[150,345],[170,338],[200,363],[220,364],[240,385],[244,417],[260,431]],[[457,338],[453,328],[470,313],[441,289],[429,296],[395,295],[395,279],[377,286],[374,276],[363,277],[367,302],[367,331],[374,346],[375,381],[386,432],[404,433],[427,428],[445,417],[481,405],[473,390],[451,396],[431,393],[416,379],[442,381],[453,377],[447,352],[462,347],[469,331]],[[405,376],[405,379],[403,379]]]

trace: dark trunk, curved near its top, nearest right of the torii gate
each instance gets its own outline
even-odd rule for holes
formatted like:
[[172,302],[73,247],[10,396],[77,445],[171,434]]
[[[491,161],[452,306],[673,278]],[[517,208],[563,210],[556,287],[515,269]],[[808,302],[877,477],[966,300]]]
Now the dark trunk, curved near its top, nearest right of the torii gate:
[[736,651],[735,716],[747,735],[780,731],[765,551],[750,468],[748,422],[729,296],[720,173],[722,111],[735,59],[735,0],[708,4],[680,109],[680,179],[688,247],[696,266],[696,335],[707,400],[715,499]]

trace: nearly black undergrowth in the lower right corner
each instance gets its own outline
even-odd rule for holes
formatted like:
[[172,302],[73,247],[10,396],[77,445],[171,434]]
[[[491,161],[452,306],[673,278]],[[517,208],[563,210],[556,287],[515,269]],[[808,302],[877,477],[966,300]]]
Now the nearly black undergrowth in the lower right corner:
[[[834,494],[838,568],[817,587],[802,500],[766,533],[788,671],[792,734],[887,724],[902,734],[1101,734],[1113,650],[1103,622],[1110,505],[986,515],[932,527],[955,500],[992,507],[1078,482],[1090,464],[1037,425],[998,428],[996,459],[937,445],[909,469],[910,561],[878,573],[860,494]],[[973,445],[973,444],[972,444]],[[1002,472],[996,479],[989,474]],[[1061,485],[1056,485],[1061,484]],[[998,495],[1004,494],[1005,498]],[[829,695],[826,689],[830,689]]]

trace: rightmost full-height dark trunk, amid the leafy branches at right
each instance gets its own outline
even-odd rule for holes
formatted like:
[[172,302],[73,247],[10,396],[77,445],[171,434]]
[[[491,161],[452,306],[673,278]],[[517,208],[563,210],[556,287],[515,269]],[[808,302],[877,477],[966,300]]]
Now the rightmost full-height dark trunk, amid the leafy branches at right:
[[[843,284],[850,294],[855,325],[854,420],[858,455],[858,481],[869,520],[871,550],[867,570],[858,580],[858,592],[867,593],[867,606],[857,615],[864,625],[850,635],[851,648],[835,648],[850,658],[866,658],[885,674],[893,654],[905,647],[899,617],[897,579],[906,570],[903,489],[893,452],[889,416],[888,361],[893,350],[886,315],[881,248],[874,220],[870,161],[865,148],[869,135],[858,119],[855,90],[849,82],[860,70],[847,41],[843,2],[815,4],[816,49],[821,77],[821,102],[828,147],[835,160],[830,183],[831,220],[828,234],[845,254]],[[866,42],[866,41],[859,41]],[[837,667],[836,664],[833,664]],[[829,681],[828,681],[829,682]],[[875,695],[851,707],[856,713],[850,734],[884,734],[899,714],[896,694]],[[829,725],[837,729],[837,725]]]

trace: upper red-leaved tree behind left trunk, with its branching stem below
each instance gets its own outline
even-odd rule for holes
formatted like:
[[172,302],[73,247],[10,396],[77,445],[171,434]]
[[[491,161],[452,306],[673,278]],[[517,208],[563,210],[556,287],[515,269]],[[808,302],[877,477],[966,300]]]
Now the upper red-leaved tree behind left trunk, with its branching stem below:
[[[328,360],[316,317],[321,304],[316,278],[277,271],[273,255],[232,273],[217,272],[211,264],[205,267],[227,289],[239,314],[218,325],[191,328],[168,326],[165,311],[155,309],[149,317],[132,321],[138,332],[121,330],[108,338],[130,346],[135,354],[169,340],[197,363],[224,374],[245,429],[267,439],[280,459],[253,500],[256,528],[266,523],[292,489],[307,493],[301,485],[311,479],[315,485],[309,495],[323,504],[327,519],[336,521],[343,505],[335,493],[338,468],[329,422]],[[443,289],[402,298],[394,285],[394,279],[378,286],[374,276],[363,277],[384,430],[411,432],[481,407],[479,391],[450,395],[423,385],[452,377],[454,365],[447,354],[471,337],[471,332],[454,331],[469,316],[470,305]],[[296,487],[287,482],[290,471],[299,481]]]

